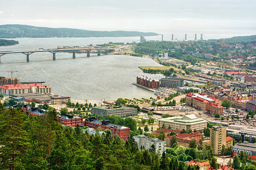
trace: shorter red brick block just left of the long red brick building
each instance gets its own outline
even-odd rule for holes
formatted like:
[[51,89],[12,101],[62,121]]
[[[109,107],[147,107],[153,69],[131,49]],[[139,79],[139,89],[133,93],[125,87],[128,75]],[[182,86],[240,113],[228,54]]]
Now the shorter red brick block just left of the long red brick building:
[[77,124],[84,125],[83,118],[67,114],[66,116],[57,115],[57,119],[61,125],[76,127]]

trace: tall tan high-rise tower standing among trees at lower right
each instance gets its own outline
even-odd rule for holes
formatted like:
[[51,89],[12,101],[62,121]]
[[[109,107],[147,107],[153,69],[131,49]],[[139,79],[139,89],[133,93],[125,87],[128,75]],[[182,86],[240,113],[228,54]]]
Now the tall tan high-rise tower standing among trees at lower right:
[[214,155],[220,155],[222,145],[226,146],[227,127],[216,126],[210,130],[210,147]]

